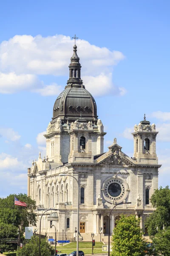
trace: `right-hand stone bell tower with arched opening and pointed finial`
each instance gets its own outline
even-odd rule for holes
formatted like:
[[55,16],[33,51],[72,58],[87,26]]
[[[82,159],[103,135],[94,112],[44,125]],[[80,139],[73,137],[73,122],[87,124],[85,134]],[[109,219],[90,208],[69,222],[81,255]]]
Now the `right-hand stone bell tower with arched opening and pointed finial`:
[[144,120],[139,125],[134,126],[134,132],[132,133],[134,138],[133,157],[137,160],[137,163],[158,164],[156,155],[157,134],[155,124],[150,125],[144,114]]

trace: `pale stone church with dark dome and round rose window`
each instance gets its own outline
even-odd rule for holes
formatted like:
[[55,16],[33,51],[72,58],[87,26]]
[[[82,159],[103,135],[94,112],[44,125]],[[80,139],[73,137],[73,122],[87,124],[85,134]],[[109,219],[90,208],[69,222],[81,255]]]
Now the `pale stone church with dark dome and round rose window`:
[[[50,120],[49,120],[50,121]],[[136,120],[139,122],[139,120]],[[115,221],[124,213],[144,220],[153,212],[150,197],[158,189],[158,158],[156,156],[155,124],[144,120],[134,126],[133,157],[128,157],[117,144],[104,152],[104,127],[97,116],[94,97],[85,89],[81,79],[81,65],[77,46],[69,65],[69,79],[65,90],[54,102],[53,117],[46,133],[46,157],[28,168],[28,195],[37,202],[37,228],[57,240],[74,239],[77,228],[77,181],[79,183],[79,240],[99,241],[108,235],[108,216],[111,232]],[[125,204],[131,202],[131,204]],[[54,227],[55,226],[55,227]]]

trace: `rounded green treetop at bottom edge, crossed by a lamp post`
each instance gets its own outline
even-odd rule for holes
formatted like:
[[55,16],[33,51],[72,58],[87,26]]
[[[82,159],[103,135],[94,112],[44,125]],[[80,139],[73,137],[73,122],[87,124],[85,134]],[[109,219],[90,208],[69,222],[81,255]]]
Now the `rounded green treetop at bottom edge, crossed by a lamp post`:
[[[41,239],[40,244],[41,256],[54,255],[55,250],[50,247],[46,239]],[[32,236],[30,241],[22,248],[17,250],[17,256],[37,256],[39,253],[39,237]]]

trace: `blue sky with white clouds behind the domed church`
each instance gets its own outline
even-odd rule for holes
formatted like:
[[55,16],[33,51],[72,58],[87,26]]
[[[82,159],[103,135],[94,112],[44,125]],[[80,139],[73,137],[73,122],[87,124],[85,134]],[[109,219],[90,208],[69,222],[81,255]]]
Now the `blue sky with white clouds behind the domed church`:
[[116,137],[131,157],[130,133],[146,113],[159,131],[159,185],[170,183],[169,10],[167,0],[1,2],[1,197],[27,192],[27,167],[44,154],[41,133],[66,85],[75,33],[105,150]]

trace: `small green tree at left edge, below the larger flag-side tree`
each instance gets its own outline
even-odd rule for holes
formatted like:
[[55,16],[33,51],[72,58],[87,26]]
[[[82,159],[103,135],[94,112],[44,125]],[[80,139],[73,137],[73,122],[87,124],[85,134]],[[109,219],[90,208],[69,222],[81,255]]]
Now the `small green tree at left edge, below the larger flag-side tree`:
[[[0,239],[17,239],[18,228],[12,224],[0,223]],[[16,250],[17,244],[6,243],[5,240],[0,240],[0,248],[3,251]]]

